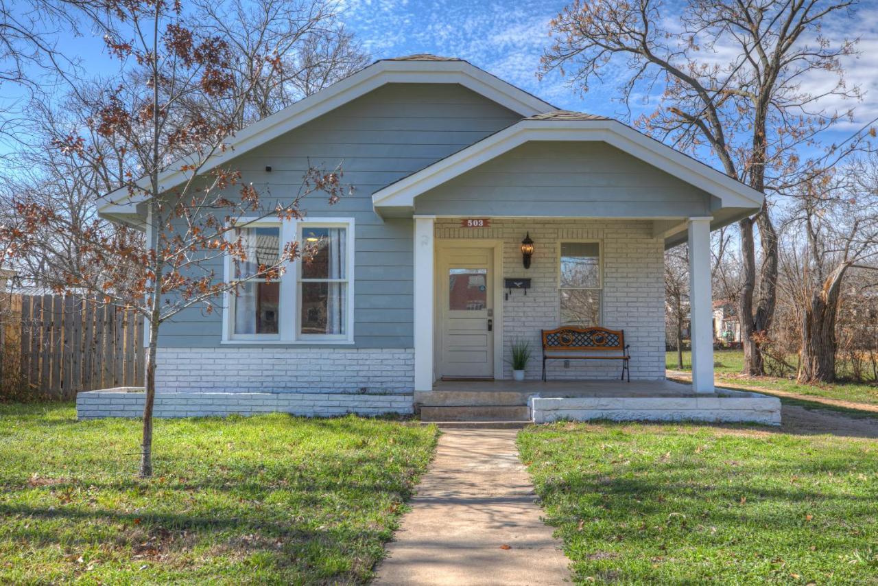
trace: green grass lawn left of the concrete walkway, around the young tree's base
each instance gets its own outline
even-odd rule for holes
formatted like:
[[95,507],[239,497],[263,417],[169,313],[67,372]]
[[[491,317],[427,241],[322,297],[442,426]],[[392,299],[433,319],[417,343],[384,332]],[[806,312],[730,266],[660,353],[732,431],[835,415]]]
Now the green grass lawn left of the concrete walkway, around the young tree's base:
[[140,422],[0,405],[0,583],[362,583],[436,430],[354,416]]

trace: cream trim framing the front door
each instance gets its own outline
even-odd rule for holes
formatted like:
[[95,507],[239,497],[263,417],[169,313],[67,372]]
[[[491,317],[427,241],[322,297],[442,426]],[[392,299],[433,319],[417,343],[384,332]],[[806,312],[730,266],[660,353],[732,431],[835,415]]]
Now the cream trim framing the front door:
[[503,242],[502,240],[486,238],[448,238],[435,239],[435,258],[433,259],[433,281],[435,290],[433,294],[433,380],[438,380],[437,368],[442,364],[443,351],[443,328],[442,328],[442,291],[439,287],[446,283],[444,275],[439,274],[441,258],[448,249],[492,249],[493,250],[493,377],[495,380],[503,378]]

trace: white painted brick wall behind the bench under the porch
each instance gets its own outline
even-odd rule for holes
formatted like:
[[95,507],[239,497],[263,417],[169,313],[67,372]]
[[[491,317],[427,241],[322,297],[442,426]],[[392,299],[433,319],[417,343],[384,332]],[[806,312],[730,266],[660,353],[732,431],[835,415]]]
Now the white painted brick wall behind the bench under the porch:
[[[534,256],[529,270],[522,266],[522,238],[529,232]],[[665,377],[665,258],[664,242],[652,237],[651,221],[493,219],[489,228],[461,228],[460,220],[437,220],[435,237],[503,240],[502,277],[529,277],[527,295],[513,291],[503,301],[503,378],[512,378],[509,347],[520,338],[534,350],[526,377],[542,375],[540,329],[558,327],[559,243],[596,240],[603,254],[603,323],[624,329],[631,344],[631,379]],[[437,327],[441,327],[437,324]],[[612,379],[621,373],[619,360],[562,360],[547,364],[550,380]]]

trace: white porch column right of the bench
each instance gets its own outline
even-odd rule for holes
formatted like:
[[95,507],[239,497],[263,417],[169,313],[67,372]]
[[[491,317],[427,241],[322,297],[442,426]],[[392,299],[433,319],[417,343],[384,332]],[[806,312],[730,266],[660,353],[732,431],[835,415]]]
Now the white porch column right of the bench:
[[689,218],[689,326],[692,387],[713,393],[713,300],[710,294],[710,220]]

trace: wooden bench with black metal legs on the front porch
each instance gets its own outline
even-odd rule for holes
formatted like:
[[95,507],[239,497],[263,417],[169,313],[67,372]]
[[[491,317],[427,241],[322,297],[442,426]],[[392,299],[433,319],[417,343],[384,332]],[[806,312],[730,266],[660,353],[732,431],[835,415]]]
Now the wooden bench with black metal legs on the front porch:
[[[625,344],[624,329],[557,328],[543,329],[543,381],[546,380],[546,360],[622,360],[622,380],[629,369],[630,344]],[[616,354],[615,352],[619,352]]]

